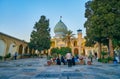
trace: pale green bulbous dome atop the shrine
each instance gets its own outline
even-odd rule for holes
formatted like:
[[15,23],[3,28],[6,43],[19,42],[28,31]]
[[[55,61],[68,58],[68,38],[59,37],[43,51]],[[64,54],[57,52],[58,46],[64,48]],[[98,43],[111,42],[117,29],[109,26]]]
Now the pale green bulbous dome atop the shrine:
[[60,20],[60,21],[55,25],[54,33],[55,33],[55,34],[58,34],[58,33],[66,34],[66,32],[67,32],[67,26]]

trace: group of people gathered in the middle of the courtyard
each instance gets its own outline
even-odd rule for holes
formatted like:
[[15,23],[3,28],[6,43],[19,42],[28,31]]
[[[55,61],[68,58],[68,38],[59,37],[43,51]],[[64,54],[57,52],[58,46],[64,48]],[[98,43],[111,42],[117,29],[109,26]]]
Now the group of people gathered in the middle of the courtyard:
[[[95,53],[95,59],[97,59],[97,54]],[[55,62],[57,65],[68,65],[68,67],[74,66],[76,64],[88,64],[89,62],[93,62],[93,55],[92,53],[89,54],[89,56],[73,56],[71,53],[67,53],[65,56],[58,56],[54,59],[53,62]]]

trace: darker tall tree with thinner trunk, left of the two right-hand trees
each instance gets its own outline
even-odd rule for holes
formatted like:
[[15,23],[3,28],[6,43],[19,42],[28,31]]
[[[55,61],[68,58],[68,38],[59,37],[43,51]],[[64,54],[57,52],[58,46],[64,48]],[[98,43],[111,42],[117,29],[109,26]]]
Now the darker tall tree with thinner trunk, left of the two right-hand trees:
[[88,1],[85,4],[86,10],[85,10],[85,17],[87,18],[87,21],[84,24],[84,27],[86,28],[86,45],[87,46],[93,46],[96,42],[98,42],[99,45],[99,57],[101,58],[101,31],[100,27],[97,27],[94,24],[94,19],[97,20],[96,17],[94,17],[94,10],[92,9],[93,1]]

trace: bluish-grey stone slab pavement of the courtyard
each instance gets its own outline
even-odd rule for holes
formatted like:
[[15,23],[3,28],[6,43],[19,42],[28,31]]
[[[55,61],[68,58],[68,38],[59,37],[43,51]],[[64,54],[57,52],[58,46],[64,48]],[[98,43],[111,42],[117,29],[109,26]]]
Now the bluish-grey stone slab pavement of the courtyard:
[[120,79],[120,64],[45,66],[46,58],[0,62],[0,79]]

